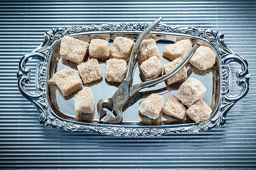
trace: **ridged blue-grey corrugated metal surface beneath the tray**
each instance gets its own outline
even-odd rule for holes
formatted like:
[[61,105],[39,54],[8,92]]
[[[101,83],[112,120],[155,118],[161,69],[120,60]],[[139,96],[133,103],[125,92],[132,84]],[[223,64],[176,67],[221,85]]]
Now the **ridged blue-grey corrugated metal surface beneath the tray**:
[[[255,1],[1,1],[0,168],[3,169],[253,169],[256,168]],[[150,22],[210,28],[249,63],[250,90],[228,113],[224,127],[199,134],[124,138],[70,133],[38,123],[20,95],[20,58],[51,28],[105,22]],[[31,61],[30,68],[35,67]],[[231,69],[238,70],[238,64]],[[234,75],[233,75],[234,78]],[[33,89],[29,84],[28,89]],[[233,82],[233,89],[240,87]]]

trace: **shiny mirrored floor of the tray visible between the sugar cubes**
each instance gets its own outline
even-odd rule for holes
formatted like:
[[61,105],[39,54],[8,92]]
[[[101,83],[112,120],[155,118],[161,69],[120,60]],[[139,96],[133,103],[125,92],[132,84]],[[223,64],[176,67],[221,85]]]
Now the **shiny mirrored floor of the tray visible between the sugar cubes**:
[[[111,34],[90,34],[90,35],[74,35],[72,37],[84,40],[84,41],[90,41],[89,37],[101,37],[102,39],[109,39],[110,47],[112,46],[113,39],[116,36],[119,36],[120,34],[117,33],[111,33]],[[121,36],[131,38],[134,41],[138,38],[138,33],[122,33]],[[179,36],[179,35],[164,35],[164,34],[149,34],[147,36],[148,38],[153,38],[157,42],[157,47],[159,51],[160,56],[160,62],[162,65],[169,63],[171,60],[168,58],[163,57],[162,51],[166,44],[168,43],[175,43],[175,41],[181,40],[181,39],[189,39],[192,43],[196,42],[200,45],[208,46],[216,53],[214,48],[207,43],[206,41],[186,37],[186,36]],[[61,94],[58,87],[52,82],[51,78],[53,74],[57,71],[60,71],[65,68],[71,68],[77,71],[77,64],[73,63],[71,61],[63,59],[59,55],[59,47],[60,47],[60,41],[56,43],[56,45],[53,47],[52,53],[51,53],[51,62],[49,65],[49,75],[48,75],[48,100],[50,103],[50,106],[56,116],[62,118],[62,119],[68,119],[72,122],[76,123],[89,123],[91,125],[98,124],[98,114],[97,111],[94,112],[94,114],[88,114],[85,117],[83,117],[83,120],[78,119],[75,112],[75,105],[74,105],[74,95],[79,91],[72,93],[71,95],[65,97]],[[218,54],[216,53],[218,56]],[[88,61],[90,58],[87,56],[86,61]],[[98,81],[94,81],[92,83],[83,84],[83,87],[90,87],[92,89],[94,100],[95,100],[95,108],[97,107],[97,102],[101,99],[108,99],[110,98],[120,83],[114,83],[114,82],[108,82],[104,78],[104,72],[105,72],[105,61],[99,60],[100,69],[102,71],[102,78]],[[138,65],[139,66],[139,65]],[[143,82],[143,78],[140,75],[139,67],[135,68],[135,73],[133,76],[133,84],[138,84]],[[188,78],[196,78],[199,81],[203,83],[203,85],[206,87],[206,93],[204,95],[204,101],[205,103],[212,109],[212,114],[215,113],[219,101],[220,101],[220,68],[219,68],[219,60],[217,58],[216,64],[207,69],[207,70],[198,70],[192,65],[187,64],[187,75]],[[145,88],[141,91],[148,91],[148,90],[156,90],[156,89],[162,89],[164,92],[161,94],[164,97],[164,103],[166,102],[168,95],[173,94],[177,96],[178,89],[180,85],[183,82],[176,83],[173,85],[167,85],[166,82],[159,83],[155,85],[154,87]],[[161,90],[160,90],[161,91]],[[145,98],[144,98],[145,99]],[[137,103],[135,103],[133,106],[129,107],[127,110],[123,112],[123,120],[121,123],[118,123],[117,125],[131,125],[131,126],[165,126],[165,125],[180,125],[180,124],[193,124],[193,120],[191,120],[188,116],[186,116],[183,120],[174,118],[172,116],[168,116],[164,113],[161,113],[161,115],[157,119],[150,119],[146,116],[141,115],[138,112],[139,103],[143,101],[144,99],[140,99]],[[97,110],[97,109],[95,109]],[[108,111],[107,109],[105,109]],[[108,113],[111,113],[108,111]]]

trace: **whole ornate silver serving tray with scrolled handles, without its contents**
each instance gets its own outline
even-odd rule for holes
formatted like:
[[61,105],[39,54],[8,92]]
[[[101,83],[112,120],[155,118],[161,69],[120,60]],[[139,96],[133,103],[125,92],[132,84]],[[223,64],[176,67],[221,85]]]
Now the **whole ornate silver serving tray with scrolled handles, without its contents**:
[[[217,55],[214,67],[199,71],[196,68],[187,67],[189,77],[199,79],[206,87],[205,102],[212,109],[211,117],[201,123],[183,121],[173,123],[171,119],[162,116],[162,121],[150,120],[138,113],[138,101],[123,113],[123,121],[118,124],[101,124],[98,115],[91,117],[91,122],[78,120],[74,110],[73,95],[63,98],[58,88],[52,85],[51,78],[54,72],[63,68],[76,68],[74,63],[61,59],[59,55],[59,43],[63,36],[69,35],[81,39],[88,35],[116,36],[124,34],[137,38],[148,26],[148,23],[106,23],[103,25],[91,25],[86,27],[66,27],[51,29],[45,33],[45,40],[34,51],[26,54],[19,62],[17,78],[20,93],[28,99],[39,111],[39,123],[67,131],[97,132],[113,136],[159,136],[170,133],[192,132],[198,133],[213,128],[221,127],[225,124],[226,114],[230,108],[242,99],[249,90],[250,74],[248,72],[247,61],[233,53],[225,44],[224,35],[218,31],[209,29],[197,29],[194,27],[180,28],[159,24],[151,31],[151,37],[157,40],[160,61],[164,65],[169,61],[161,57],[163,47],[166,43],[174,43],[179,39],[190,39],[209,46]],[[110,44],[113,40],[110,39]],[[26,66],[30,59],[37,59],[35,69],[36,91],[29,91],[25,85],[30,83],[31,69]],[[242,86],[242,90],[237,95],[230,95],[231,90],[231,70],[230,62],[237,62],[241,65],[241,70],[236,71],[237,85]],[[100,68],[104,75],[104,62],[100,62]],[[134,84],[141,82],[139,70],[136,68]],[[101,80],[90,86],[94,93],[95,104],[100,99],[110,98],[118,87],[118,84],[108,83]],[[155,90],[167,87],[167,92],[161,95],[167,100],[169,93],[177,96],[179,85],[168,86],[164,82],[146,90]]]

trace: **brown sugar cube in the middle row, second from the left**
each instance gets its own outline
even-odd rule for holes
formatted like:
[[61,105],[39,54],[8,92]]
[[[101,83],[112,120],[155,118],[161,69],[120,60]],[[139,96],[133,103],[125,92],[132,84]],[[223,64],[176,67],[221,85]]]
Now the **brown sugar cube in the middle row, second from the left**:
[[83,83],[91,83],[99,80],[102,73],[97,59],[92,58],[87,62],[77,65]]

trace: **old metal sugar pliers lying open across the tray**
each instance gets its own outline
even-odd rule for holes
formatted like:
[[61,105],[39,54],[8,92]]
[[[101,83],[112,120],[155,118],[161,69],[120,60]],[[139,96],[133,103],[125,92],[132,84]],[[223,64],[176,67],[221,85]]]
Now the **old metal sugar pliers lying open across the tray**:
[[[126,75],[123,82],[120,84],[112,98],[109,99],[101,99],[97,103],[97,111],[99,116],[99,121],[104,123],[119,123],[122,121],[123,118],[123,111],[127,109],[129,106],[133,105],[135,102],[137,102],[139,99],[143,98],[145,95],[148,95],[149,93],[153,93],[155,90],[148,91],[148,92],[139,92],[141,89],[145,87],[150,87],[155,84],[158,84],[160,82],[163,82],[167,80],[168,78],[174,76],[181,68],[183,68],[186,63],[190,60],[190,58],[193,56],[193,54],[196,51],[196,48],[198,47],[197,44],[193,45],[193,48],[189,52],[189,54],[185,57],[185,59],[172,71],[170,71],[168,74],[151,80],[151,81],[145,81],[143,83],[139,83],[136,85],[132,85],[132,77],[133,77],[133,71],[137,64],[137,58],[135,59],[136,52],[139,48],[140,43],[144,39],[144,37],[155,27],[158,25],[158,23],[162,20],[162,17],[159,17],[154,22],[151,23],[139,36],[137,41],[134,44],[133,50],[130,54],[129,63],[127,65],[126,69]],[[160,89],[161,90],[161,89]],[[164,91],[164,89],[162,89]],[[112,117],[110,114],[106,115],[106,111],[103,110],[103,108],[107,108],[109,110],[113,110],[113,114],[115,117]],[[104,120],[102,120],[102,118]]]

